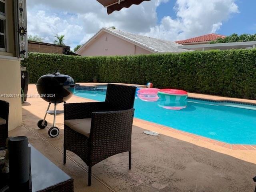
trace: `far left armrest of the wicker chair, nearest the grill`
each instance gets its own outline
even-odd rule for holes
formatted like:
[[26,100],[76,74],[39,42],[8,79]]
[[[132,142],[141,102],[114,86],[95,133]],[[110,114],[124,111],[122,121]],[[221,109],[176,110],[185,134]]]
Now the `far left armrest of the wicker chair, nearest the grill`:
[[91,118],[92,112],[104,111],[105,108],[105,102],[66,103],[64,120]]

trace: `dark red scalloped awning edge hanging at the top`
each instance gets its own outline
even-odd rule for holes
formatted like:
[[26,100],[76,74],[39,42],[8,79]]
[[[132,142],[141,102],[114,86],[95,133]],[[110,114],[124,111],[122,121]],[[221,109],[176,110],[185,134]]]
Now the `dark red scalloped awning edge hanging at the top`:
[[133,4],[140,4],[143,1],[150,1],[150,0],[97,0],[100,2],[104,7],[107,8],[108,14],[112,13],[113,11],[119,11],[122,8],[128,8]]

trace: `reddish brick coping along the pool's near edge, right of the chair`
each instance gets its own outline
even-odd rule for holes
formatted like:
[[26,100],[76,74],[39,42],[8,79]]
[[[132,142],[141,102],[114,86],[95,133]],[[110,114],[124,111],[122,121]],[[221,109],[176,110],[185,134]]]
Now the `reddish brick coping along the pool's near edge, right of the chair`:
[[139,119],[139,118],[134,118],[134,121],[135,122],[140,122],[142,124],[150,125],[150,126],[153,126],[155,128],[161,129],[161,130],[170,131],[170,132],[173,132],[175,134],[180,134],[182,136],[187,136],[187,137],[193,138],[195,140],[202,140],[204,142],[208,142],[210,144],[214,144],[214,145],[224,147],[224,148],[227,148],[227,149],[230,149],[230,150],[256,150],[256,145],[229,144],[229,143],[226,143],[226,142],[222,142],[222,141],[214,140],[214,139],[211,139],[211,138],[199,136],[199,135],[196,135],[196,134],[192,134],[192,133],[189,133],[189,132],[174,129],[172,127],[156,124],[156,123],[146,121],[146,120],[142,120],[142,119]]

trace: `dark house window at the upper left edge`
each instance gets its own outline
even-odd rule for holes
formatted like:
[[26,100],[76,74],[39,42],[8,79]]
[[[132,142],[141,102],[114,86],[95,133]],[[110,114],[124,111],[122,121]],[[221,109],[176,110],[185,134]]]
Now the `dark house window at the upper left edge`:
[[0,0],[0,51],[6,51],[5,0]]

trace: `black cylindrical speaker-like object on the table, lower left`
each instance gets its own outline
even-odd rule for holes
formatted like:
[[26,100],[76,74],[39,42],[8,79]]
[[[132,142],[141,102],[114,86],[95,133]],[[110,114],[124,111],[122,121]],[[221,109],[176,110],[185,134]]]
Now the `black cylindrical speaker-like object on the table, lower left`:
[[8,142],[10,166],[10,190],[29,191],[29,150],[28,138],[18,136]]

